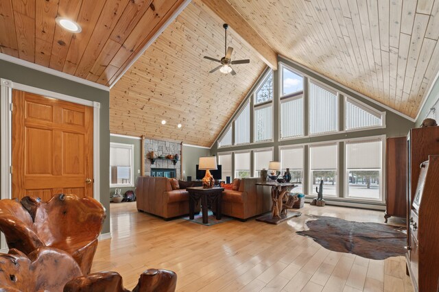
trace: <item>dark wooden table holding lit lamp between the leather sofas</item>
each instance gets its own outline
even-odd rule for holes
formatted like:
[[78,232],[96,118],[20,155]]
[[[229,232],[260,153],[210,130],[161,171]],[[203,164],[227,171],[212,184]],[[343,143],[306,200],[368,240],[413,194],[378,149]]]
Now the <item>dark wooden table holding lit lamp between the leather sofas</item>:
[[198,204],[201,199],[201,211],[203,215],[203,223],[208,223],[207,219],[207,205],[211,203],[211,206],[215,206],[215,214],[217,220],[221,219],[221,198],[224,188],[203,188],[202,186],[195,186],[186,188],[189,193],[189,219],[193,220],[195,212],[195,204]]

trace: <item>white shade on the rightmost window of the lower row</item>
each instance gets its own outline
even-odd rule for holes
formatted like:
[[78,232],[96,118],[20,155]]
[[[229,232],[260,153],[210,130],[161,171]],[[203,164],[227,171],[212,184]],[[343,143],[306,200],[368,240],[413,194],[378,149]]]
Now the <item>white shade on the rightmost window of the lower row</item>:
[[380,169],[381,139],[346,143],[346,167],[348,169]]

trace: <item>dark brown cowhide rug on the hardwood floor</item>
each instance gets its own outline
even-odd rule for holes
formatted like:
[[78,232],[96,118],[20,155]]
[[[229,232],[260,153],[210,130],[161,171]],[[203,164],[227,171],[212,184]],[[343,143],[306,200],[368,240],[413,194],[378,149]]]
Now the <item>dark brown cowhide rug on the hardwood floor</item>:
[[405,228],[381,223],[346,221],[327,216],[310,216],[309,230],[296,232],[334,252],[356,254],[373,260],[403,256],[407,235]]

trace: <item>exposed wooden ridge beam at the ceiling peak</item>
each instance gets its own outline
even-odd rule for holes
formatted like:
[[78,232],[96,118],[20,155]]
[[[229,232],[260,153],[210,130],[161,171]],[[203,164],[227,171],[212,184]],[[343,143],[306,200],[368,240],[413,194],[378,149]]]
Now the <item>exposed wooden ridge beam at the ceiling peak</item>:
[[230,27],[243,38],[259,58],[277,70],[277,53],[268,45],[267,42],[257,33],[256,30],[244,19],[244,17],[233,8],[227,0],[201,0],[204,5],[211,9],[220,19],[228,23]]

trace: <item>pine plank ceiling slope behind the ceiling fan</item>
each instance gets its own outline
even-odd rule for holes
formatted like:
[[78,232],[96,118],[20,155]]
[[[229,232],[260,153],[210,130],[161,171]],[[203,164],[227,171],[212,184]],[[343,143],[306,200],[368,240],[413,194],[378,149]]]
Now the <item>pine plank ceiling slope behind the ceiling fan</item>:
[[[223,21],[193,1],[110,90],[110,132],[210,147],[265,64],[230,27],[237,75],[209,74],[224,55]],[[165,119],[166,125],[161,121]],[[182,127],[177,127],[182,123]]]

